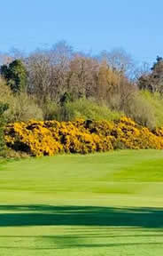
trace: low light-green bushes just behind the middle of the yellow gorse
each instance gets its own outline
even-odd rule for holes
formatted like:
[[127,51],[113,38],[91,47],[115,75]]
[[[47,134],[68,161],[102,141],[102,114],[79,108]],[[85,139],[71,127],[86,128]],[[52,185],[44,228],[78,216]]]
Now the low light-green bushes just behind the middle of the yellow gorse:
[[95,100],[79,99],[57,105],[50,101],[43,106],[44,120],[74,121],[75,119],[93,119],[113,121],[120,119],[122,113],[112,111],[104,103]]

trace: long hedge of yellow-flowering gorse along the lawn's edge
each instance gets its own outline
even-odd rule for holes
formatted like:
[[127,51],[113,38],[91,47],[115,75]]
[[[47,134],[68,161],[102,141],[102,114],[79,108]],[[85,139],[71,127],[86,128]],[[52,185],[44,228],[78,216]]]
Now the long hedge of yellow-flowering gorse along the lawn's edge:
[[30,120],[8,124],[4,133],[8,147],[31,156],[53,156],[61,152],[87,154],[114,148],[163,148],[163,128],[151,132],[125,116],[114,123]]

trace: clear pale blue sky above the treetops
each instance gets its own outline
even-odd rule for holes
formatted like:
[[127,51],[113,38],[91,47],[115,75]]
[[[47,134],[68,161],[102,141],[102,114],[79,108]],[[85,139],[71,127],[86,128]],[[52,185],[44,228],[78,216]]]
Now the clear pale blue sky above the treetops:
[[65,39],[97,54],[122,47],[136,60],[163,56],[162,0],[0,0],[0,52]]

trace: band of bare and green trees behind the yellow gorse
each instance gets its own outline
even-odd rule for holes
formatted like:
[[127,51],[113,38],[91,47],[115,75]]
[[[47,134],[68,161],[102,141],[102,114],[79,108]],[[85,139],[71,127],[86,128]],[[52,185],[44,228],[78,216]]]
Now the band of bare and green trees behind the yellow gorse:
[[[50,49],[1,54],[0,116],[15,121],[129,116],[163,125],[163,60],[136,68],[122,50],[91,56],[60,42]],[[7,106],[4,108],[4,106]]]

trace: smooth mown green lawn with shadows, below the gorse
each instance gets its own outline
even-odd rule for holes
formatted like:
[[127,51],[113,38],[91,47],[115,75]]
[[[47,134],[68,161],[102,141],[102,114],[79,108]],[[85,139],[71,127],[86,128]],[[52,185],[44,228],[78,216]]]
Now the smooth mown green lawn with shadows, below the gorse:
[[163,151],[1,162],[0,256],[163,255]]

